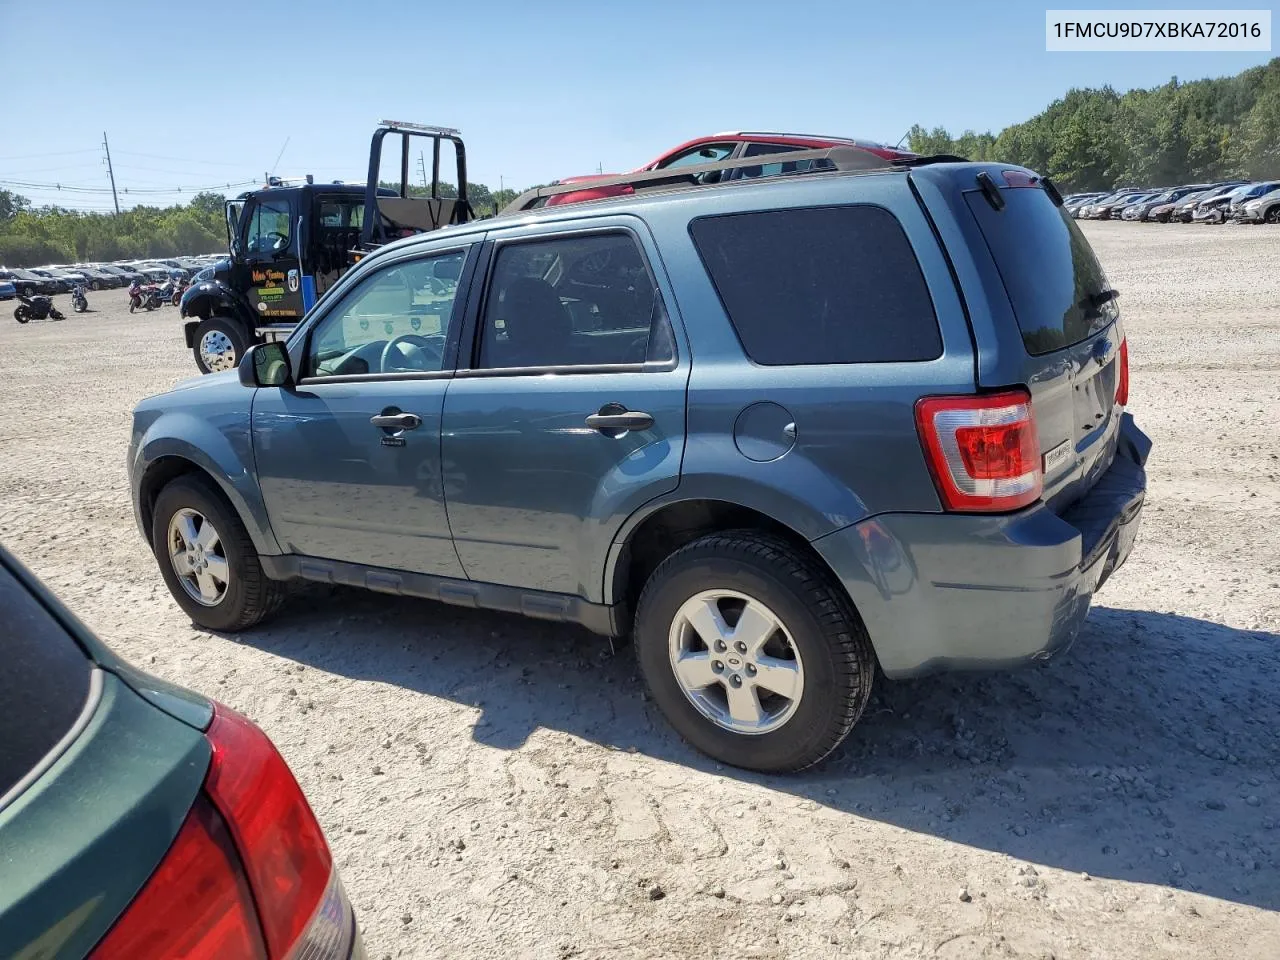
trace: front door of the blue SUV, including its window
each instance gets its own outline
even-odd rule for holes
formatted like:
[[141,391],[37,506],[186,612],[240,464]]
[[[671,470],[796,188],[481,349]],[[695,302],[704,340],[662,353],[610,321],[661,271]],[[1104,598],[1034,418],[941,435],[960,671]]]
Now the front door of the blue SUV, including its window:
[[440,474],[456,352],[448,333],[461,298],[433,279],[457,274],[467,253],[407,255],[370,271],[308,325],[297,385],[257,392],[253,453],[287,552],[463,576]]

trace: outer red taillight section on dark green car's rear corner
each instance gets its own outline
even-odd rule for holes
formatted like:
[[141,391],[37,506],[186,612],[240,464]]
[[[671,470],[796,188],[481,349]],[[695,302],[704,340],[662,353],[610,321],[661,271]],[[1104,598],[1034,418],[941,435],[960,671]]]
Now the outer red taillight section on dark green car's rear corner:
[[266,733],[219,704],[207,736],[214,760],[205,788],[244,858],[270,954],[283,957],[324,896],[329,845]]

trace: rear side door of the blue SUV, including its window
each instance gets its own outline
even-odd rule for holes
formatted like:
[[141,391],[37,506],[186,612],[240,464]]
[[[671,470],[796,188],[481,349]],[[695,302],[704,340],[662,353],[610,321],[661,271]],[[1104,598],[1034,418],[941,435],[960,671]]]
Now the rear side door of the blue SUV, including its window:
[[470,579],[598,602],[614,531],[678,484],[690,358],[644,224],[591,224],[488,248],[442,461]]

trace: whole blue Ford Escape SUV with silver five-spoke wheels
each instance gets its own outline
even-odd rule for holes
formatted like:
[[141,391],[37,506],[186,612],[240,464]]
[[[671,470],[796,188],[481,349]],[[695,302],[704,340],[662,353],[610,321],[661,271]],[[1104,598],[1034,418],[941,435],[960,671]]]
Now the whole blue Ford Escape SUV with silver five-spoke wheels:
[[691,744],[792,771],[877,664],[1073,640],[1138,530],[1128,393],[1053,186],[922,160],[389,244],[287,343],[145,399],[129,471],[207,628],[301,579],[631,635]]

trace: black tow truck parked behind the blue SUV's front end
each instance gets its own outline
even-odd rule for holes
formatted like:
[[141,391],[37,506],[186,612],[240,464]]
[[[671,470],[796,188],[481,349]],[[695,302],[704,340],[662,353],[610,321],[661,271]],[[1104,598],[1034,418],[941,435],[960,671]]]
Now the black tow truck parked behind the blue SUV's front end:
[[[387,138],[399,143],[399,183],[380,186]],[[457,196],[440,196],[440,151],[452,147]],[[411,157],[431,157],[428,196],[411,196]],[[425,165],[425,164],[424,164]],[[227,201],[228,257],[182,297],[183,337],[202,374],[232,370],[253,343],[288,337],[362,256],[384,243],[475,219],[458,131],[380,120],[366,183],[269,178]]]

